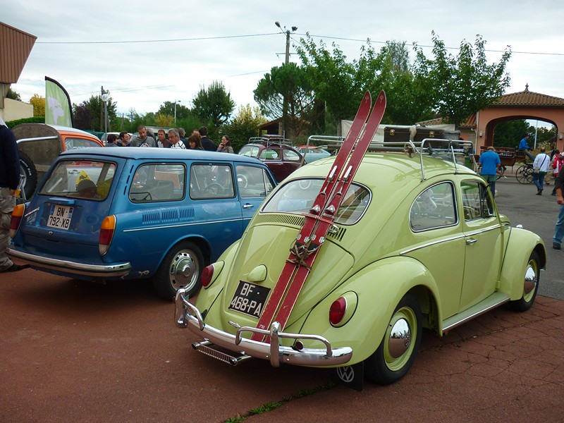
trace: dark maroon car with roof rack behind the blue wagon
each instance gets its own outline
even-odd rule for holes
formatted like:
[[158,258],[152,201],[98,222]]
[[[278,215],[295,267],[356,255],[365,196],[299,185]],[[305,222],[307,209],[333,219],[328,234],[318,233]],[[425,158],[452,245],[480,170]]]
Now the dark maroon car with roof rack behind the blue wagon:
[[278,182],[305,164],[302,154],[291,145],[267,139],[261,141],[255,138],[252,141],[241,147],[239,155],[264,161]]

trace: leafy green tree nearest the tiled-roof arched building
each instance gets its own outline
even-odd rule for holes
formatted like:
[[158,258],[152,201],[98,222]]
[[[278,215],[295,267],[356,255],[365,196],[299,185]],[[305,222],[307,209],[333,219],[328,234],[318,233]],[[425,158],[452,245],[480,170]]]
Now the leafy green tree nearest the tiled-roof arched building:
[[458,56],[448,54],[444,42],[433,31],[433,59],[415,45],[415,74],[433,100],[434,109],[449,123],[460,125],[476,111],[487,109],[509,86],[505,67],[511,56],[508,46],[498,63],[486,61],[481,35],[474,46],[463,40]]

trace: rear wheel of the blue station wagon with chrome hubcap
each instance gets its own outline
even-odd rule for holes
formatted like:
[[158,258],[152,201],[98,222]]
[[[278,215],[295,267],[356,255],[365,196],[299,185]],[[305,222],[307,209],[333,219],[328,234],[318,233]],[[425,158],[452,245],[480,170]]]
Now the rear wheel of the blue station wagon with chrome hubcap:
[[164,257],[159,270],[153,276],[153,285],[157,293],[165,300],[171,300],[176,291],[185,288],[188,295],[194,294],[202,281],[204,257],[194,243],[178,243]]

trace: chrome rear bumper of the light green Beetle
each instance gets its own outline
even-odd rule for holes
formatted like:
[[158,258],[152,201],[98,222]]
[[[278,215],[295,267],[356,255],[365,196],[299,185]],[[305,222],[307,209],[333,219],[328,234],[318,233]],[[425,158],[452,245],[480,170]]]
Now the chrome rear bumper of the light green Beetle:
[[[190,304],[184,295],[185,290],[179,289],[176,293],[176,325],[182,329],[188,327],[190,331],[202,334],[209,341],[228,350],[249,355],[250,357],[269,360],[274,367],[280,367],[281,363],[297,364],[302,366],[335,366],[345,364],[353,356],[350,347],[331,348],[331,343],[323,336],[307,335],[302,333],[285,333],[280,331],[280,324],[275,321],[269,331],[257,329],[250,326],[238,327],[235,335],[220,331],[209,324],[204,323],[200,310]],[[243,332],[261,333],[270,337],[270,343],[252,341],[243,338]],[[325,348],[293,348],[280,345],[280,338],[298,340],[319,341]]]

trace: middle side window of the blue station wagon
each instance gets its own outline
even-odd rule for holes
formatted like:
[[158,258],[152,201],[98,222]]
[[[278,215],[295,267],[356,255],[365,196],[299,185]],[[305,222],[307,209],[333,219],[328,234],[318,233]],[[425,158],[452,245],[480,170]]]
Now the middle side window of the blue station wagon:
[[233,170],[226,164],[192,164],[190,168],[190,197],[233,198]]

